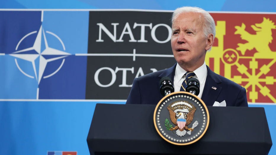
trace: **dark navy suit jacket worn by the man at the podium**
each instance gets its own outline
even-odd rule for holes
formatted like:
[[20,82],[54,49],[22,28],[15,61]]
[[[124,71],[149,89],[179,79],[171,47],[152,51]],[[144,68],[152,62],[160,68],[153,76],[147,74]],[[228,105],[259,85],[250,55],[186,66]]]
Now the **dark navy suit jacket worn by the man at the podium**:
[[[126,104],[158,104],[164,97],[160,93],[160,80],[170,77],[174,80],[176,64],[166,70],[160,70],[135,78]],[[173,81],[172,81],[173,82]],[[216,87],[216,90],[212,89]],[[207,78],[201,99],[207,106],[225,100],[226,106],[248,106],[245,88],[211,71],[207,66]]]

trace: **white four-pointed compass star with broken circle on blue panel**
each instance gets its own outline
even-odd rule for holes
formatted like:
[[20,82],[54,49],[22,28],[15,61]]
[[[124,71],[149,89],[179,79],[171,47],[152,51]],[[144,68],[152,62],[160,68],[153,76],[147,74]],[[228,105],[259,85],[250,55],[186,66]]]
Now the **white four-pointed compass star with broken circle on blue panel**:
[[[39,85],[42,78],[49,78],[52,75],[56,74],[60,70],[62,65],[64,64],[64,62],[65,62],[64,58],[71,55],[70,53],[65,52],[65,46],[64,46],[62,40],[56,34],[54,34],[52,32],[49,32],[49,31],[46,31],[46,33],[48,33],[50,35],[53,35],[55,38],[57,38],[60,41],[60,44],[62,45],[63,51],[49,47],[44,29],[41,25],[38,32],[33,31],[33,32],[28,33],[27,35],[25,35],[17,43],[17,46],[15,48],[15,52],[13,52],[12,54],[9,54],[10,56],[14,56],[16,58],[23,59],[23,60],[26,60],[26,61],[32,63],[35,77],[27,74],[26,72],[24,72],[20,68],[20,66],[18,65],[17,59],[15,58],[15,63],[17,65],[17,68],[20,70],[20,72],[22,72],[24,75],[28,76],[29,78],[36,78],[36,80],[38,82],[38,85]],[[18,50],[18,47],[20,46],[20,43],[25,38],[27,38],[28,36],[33,35],[33,34],[37,34],[36,39],[33,43],[33,46],[29,47],[29,48]],[[42,49],[43,44],[45,46],[45,49]],[[30,54],[30,53],[32,53],[32,54]],[[48,56],[51,56],[51,58],[47,58]],[[52,72],[49,75],[43,76],[43,73],[45,71],[47,63],[58,60],[58,59],[63,59],[63,60],[62,60],[62,63],[60,64],[60,66],[57,68],[57,70],[55,70],[54,72]],[[37,60],[39,60],[38,65],[35,64],[35,61],[37,61]],[[38,69],[38,71],[37,71],[37,69]]]

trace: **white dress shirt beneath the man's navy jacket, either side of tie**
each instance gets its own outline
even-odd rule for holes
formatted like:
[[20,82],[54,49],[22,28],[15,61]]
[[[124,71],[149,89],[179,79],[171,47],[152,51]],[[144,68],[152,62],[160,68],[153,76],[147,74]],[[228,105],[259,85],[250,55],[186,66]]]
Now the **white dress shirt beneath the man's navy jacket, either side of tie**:
[[[184,75],[187,71],[182,69],[179,64],[176,64],[175,73],[174,73],[174,92],[180,90],[182,82],[186,79],[186,75]],[[199,94],[198,97],[201,99],[204,85],[206,82],[207,77],[207,67],[206,63],[204,62],[202,66],[198,69],[194,70],[195,76],[193,78],[197,78],[200,85],[199,85]]]

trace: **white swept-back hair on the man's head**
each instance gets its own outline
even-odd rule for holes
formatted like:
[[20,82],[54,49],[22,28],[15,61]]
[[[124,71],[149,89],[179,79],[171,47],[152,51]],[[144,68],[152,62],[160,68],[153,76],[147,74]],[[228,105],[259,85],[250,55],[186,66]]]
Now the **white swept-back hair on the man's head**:
[[174,13],[171,17],[171,23],[174,23],[174,20],[178,17],[179,14],[182,14],[184,12],[194,12],[194,13],[200,13],[203,15],[205,22],[203,23],[203,33],[205,37],[208,36],[208,34],[212,33],[216,35],[216,25],[213,17],[205,10],[199,8],[199,7],[180,7],[174,10]]

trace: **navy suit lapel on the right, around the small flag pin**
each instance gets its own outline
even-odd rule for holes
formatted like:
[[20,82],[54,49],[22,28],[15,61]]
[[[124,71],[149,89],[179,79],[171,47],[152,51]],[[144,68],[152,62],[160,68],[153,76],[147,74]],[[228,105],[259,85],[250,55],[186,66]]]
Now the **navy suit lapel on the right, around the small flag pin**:
[[220,83],[222,83],[222,81],[218,78],[217,74],[207,66],[207,77],[201,97],[207,106],[213,106],[218,98],[222,90]]

